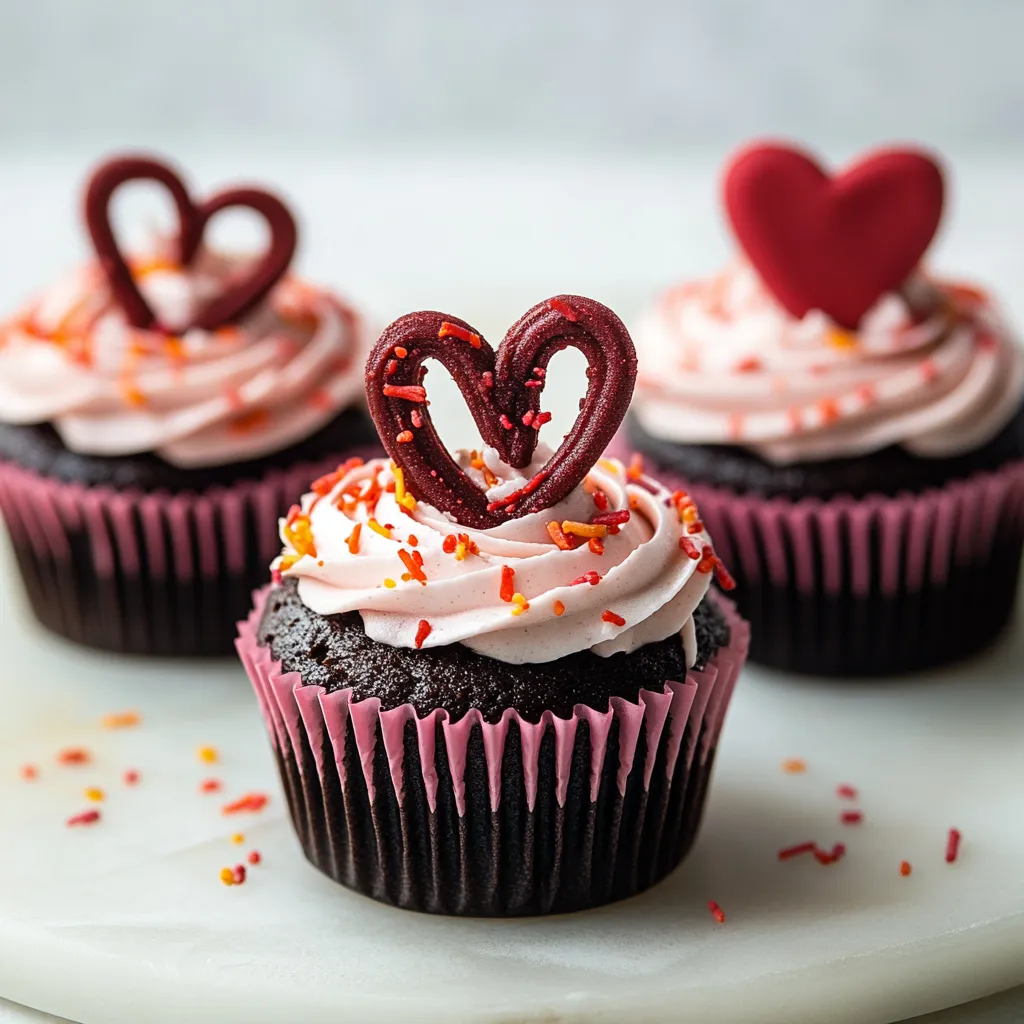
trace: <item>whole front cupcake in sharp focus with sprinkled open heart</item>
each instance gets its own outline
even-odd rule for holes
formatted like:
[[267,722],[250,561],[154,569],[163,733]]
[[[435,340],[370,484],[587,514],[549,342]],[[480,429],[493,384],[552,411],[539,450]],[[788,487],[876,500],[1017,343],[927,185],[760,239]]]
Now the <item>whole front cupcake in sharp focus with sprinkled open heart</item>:
[[[566,346],[588,391],[552,453],[540,399]],[[440,445],[427,357],[479,450]],[[578,910],[692,844],[748,630],[709,593],[686,496],[599,461],[634,375],[621,321],[578,296],[534,307],[497,355],[436,312],[371,354],[391,460],[292,510],[238,644],[306,857],[342,885],[434,913]]]

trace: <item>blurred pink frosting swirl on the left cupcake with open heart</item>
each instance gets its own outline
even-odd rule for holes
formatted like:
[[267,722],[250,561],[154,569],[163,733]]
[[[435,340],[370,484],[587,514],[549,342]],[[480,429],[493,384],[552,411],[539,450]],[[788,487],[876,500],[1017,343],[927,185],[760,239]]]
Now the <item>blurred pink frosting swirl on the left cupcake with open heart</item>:
[[[158,321],[187,324],[246,260],[133,261]],[[52,423],[86,455],[155,452],[182,468],[256,459],[360,400],[369,339],[340,299],[283,280],[241,323],[179,335],[132,327],[98,264],[76,269],[0,331],[0,420]]]

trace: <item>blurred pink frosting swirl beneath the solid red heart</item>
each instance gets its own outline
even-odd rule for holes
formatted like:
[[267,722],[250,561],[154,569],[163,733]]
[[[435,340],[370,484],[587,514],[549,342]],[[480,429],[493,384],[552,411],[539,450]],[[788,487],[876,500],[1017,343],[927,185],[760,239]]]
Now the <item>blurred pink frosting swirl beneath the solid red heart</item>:
[[891,444],[955,456],[994,437],[1024,396],[1024,352],[987,296],[924,278],[852,334],[818,311],[794,318],[739,264],[669,292],[634,337],[648,433],[780,465]]

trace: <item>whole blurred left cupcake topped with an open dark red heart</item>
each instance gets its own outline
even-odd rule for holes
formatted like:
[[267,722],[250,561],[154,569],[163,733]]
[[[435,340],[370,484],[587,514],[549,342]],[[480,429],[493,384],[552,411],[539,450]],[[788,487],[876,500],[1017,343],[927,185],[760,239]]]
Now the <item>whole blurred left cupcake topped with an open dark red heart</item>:
[[[125,256],[125,182],[171,195],[178,230]],[[204,245],[227,207],[260,255]],[[0,330],[0,510],[32,607],[55,633],[139,654],[226,654],[310,478],[380,452],[362,400],[370,339],[292,276],[296,226],[254,188],[189,199],[171,168],[113,160],[85,190],[96,258]]]

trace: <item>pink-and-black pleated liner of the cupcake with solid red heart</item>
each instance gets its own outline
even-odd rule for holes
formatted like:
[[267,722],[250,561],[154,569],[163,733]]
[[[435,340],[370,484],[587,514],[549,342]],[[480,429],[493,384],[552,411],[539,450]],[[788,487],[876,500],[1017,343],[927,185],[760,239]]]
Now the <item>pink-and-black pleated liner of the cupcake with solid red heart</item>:
[[[629,458],[625,441],[609,454]],[[764,499],[688,483],[736,580],[751,659],[790,672],[883,676],[958,660],[1010,618],[1024,546],[1024,462],[896,497]]]

